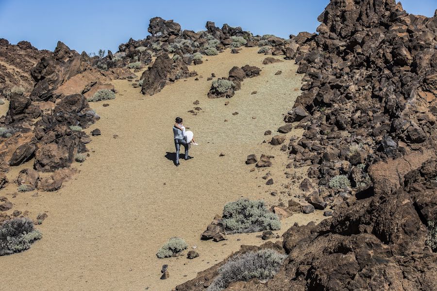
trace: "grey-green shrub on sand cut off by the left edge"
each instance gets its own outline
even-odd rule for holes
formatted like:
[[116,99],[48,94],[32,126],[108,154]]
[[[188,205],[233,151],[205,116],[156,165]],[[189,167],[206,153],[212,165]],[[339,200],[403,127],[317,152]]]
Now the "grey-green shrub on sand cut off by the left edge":
[[42,237],[29,218],[6,220],[0,226],[0,256],[25,251]]

